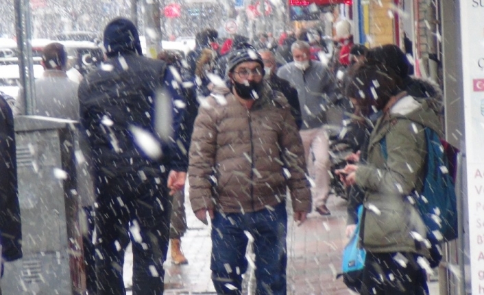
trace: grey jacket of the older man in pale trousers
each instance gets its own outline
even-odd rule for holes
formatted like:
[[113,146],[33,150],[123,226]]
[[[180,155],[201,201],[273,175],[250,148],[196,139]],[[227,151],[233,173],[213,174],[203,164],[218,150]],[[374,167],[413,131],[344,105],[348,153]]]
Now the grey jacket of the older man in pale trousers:
[[303,72],[294,62],[290,62],[279,68],[277,75],[298,90],[302,112],[301,129],[317,128],[328,123],[326,110],[336,100],[337,89],[328,67],[311,60],[309,67]]

